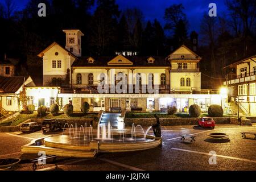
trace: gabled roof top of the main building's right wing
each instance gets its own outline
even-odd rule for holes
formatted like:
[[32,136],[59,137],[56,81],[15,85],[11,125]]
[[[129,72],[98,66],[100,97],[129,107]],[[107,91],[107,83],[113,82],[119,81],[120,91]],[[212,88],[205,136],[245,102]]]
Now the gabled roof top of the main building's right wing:
[[[186,52],[182,52],[179,53],[179,50],[184,48]],[[182,58],[181,55],[184,55],[185,57]],[[193,55],[193,57],[188,56],[188,55]],[[172,52],[169,56],[168,56],[169,60],[201,60],[201,57],[199,55],[197,55],[195,52],[191,51],[191,49],[189,49],[187,46],[182,45],[179,48],[177,48],[174,52]]]

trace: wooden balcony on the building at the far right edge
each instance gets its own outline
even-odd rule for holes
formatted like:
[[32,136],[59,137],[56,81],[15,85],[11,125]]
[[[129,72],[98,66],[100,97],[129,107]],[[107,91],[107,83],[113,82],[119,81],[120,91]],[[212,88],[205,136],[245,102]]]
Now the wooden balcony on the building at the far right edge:
[[250,72],[250,73],[245,73],[242,75],[236,75],[236,76],[231,76],[229,78],[228,83],[224,81],[224,85],[232,85],[232,84],[240,84],[243,82],[249,82],[249,81],[255,81],[256,80],[256,72]]

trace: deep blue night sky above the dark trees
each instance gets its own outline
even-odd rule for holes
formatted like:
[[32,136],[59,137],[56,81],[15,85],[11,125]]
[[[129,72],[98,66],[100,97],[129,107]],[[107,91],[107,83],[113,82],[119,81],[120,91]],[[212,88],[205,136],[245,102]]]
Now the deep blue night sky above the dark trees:
[[[3,2],[5,0],[0,0]],[[28,0],[15,0],[19,10],[22,10]],[[164,26],[164,10],[172,4],[182,3],[189,21],[189,31],[200,31],[200,20],[204,12],[208,12],[209,3],[216,3],[217,15],[226,11],[225,0],[116,0],[120,10],[131,7],[141,9],[145,20],[158,19]]]

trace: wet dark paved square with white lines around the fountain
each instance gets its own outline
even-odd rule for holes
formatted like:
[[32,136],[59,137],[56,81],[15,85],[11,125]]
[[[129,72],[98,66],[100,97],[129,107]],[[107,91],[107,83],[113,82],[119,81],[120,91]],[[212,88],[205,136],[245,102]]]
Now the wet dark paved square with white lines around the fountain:
[[[129,129],[128,129],[129,130]],[[146,130],[146,128],[145,128]],[[254,135],[243,139],[241,132],[256,133],[256,125],[217,125],[215,129],[202,129],[199,126],[163,126],[163,145],[150,150],[98,154],[94,159],[57,158],[57,170],[256,170],[256,140]],[[228,138],[211,139],[207,134],[226,133]],[[0,133],[0,158],[18,157],[22,163],[10,170],[32,170],[27,159],[36,155],[22,154],[20,147],[32,139],[62,134],[41,131],[22,134]],[[152,134],[152,131],[149,133]],[[180,140],[182,134],[193,134],[195,142]],[[216,164],[209,164],[209,152],[216,152]],[[55,165],[47,164],[40,170],[55,170]]]

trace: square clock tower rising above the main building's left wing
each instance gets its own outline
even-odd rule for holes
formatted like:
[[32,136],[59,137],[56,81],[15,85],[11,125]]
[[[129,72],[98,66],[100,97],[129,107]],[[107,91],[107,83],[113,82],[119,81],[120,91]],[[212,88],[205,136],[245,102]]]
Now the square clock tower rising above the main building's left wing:
[[66,34],[65,48],[77,57],[82,56],[81,36],[84,36],[80,30],[63,30]]

